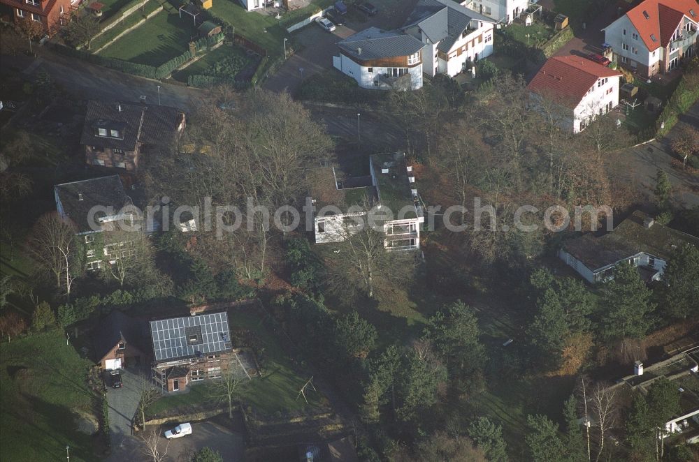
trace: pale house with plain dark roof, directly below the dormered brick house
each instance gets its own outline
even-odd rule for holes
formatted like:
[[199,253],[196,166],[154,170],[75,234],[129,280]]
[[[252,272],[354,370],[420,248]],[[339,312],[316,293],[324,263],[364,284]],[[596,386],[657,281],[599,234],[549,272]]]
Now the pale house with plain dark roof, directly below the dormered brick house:
[[102,232],[113,230],[117,221],[135,225],[142,218],[131,207],[118,175],[57,184],[54,195],[59,216],[75,224],[78,239],[85,243],[87,269],[103,267],[104,257],[110,255],[111,248],[101,245]]

